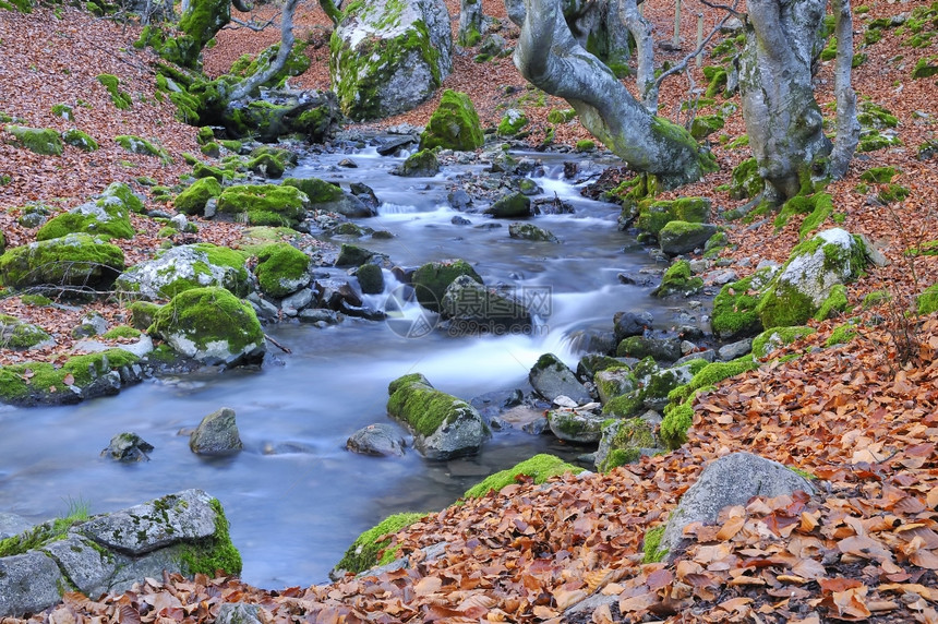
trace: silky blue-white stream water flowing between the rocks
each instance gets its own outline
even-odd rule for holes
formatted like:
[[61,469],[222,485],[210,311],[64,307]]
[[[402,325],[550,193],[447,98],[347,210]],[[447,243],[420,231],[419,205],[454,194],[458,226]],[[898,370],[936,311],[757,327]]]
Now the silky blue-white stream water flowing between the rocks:
[[[486,475],[536,453],[573,458],[582,452],[551,435],[514,430],[496,432],[478,457],[448,463],[430,464],[413,452],[374,458],[345,449],[352,432],[387,420],[387,384],[399,375],[421,372],[437,388],[467,399],[500,389],[527,392],[528,370],[540,355],[551,351],[575,364],[572,334],[610,329],[616,310],[653,310],[660,303],[647,288],[618,283],[617,273],[653,261],[616,230],[616,206],[584,200],[562,180],[561,156],[546,157],[545,176],[537,181],[545,196],[569,201],[576,213],[532,221],[562,244],[510,239],[507,223],[489,227],[494,221],[482,215],[464,215],[471,225],[453,225],[459,213],[447,207],[446,187],[478,166],[408,179],[389,175],[399,158],[362,152],[351,155],[358,168],[340,169],[336,164],[342,157],[311,156],[292,175],[362,181],[375,190],[383,202],[380,215],[359,223],[395,238],[358,244],[404,266],[462,257],[486,284],[534,293],[539,331],[406,338],[383,322],[348,319],[325,329],[287,323],[266,331],[292,353],[272,348],[260,371],[152,380],[77,406],[4,408],[0,511],[40,521],[63,515],[75,502],[103,513],[201,488],[225,505],[244,560],[243,578],[282,588],[326,580],[356,536],[388,514],[438,511]],[[385,277],[393,287],[390,273]],[[372,296],[368,302],[381,307],[385,300]],[[193,455],[181,430],[223,406],[237,412],[244,452],[224,459]],[[99,456],[122,431],[156,447],[151,461],[121,465]]]

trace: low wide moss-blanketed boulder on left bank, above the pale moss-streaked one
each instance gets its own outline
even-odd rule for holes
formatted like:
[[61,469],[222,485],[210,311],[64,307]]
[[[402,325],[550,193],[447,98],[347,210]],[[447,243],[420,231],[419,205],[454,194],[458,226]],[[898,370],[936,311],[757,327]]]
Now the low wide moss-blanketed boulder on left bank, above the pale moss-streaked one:
[[310,200],[294,187],[244,184],[229,187],[218,196],[218,212],[244,219],[252,226],[299,225]]

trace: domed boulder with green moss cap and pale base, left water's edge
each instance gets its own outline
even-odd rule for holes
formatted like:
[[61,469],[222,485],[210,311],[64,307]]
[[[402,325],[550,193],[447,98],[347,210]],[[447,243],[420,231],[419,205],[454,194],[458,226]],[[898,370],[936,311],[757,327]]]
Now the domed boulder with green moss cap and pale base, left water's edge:
[[149,332],[208,365],[260,363],[267,350],[254,309],[217,287],[180,292],[157,311]]

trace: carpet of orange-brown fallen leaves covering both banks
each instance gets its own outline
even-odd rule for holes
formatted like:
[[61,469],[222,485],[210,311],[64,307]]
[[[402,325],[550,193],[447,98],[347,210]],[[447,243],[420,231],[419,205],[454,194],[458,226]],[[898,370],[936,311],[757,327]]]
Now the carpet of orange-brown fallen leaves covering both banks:
[[[449,7],[454,31],[456,4]],[[840,227],[866,235],[889,264],[850,285],[849,314],[813,322],[816,334],[774,353],[799,358],[763,365],[701,394],[683,447],[606,475],[567,475],[546,489],[519,482],[428,516],[395,538],[400,552],[411,555],[406,571],[277,590],[237,578],[148,579],[119,596],[69,593],[33,620],[202,622],[212,621],[223,602],[254,602],[263,608],[264,622],[539,622],[560,621],[565,608],[599,592],[616,600],[582,621],[938,623],[938,314],[919,315],[914,307],[915,296],[935,280],[938,256],[910,253],[938,236],[938,168],[934,158],[916,158],[917,146],[938,135],[938,89],[935,79],[911,77],[919,59],[938,55],[938,37],[915,48],[907,45],[909,28],[889,27],[879,40],[862,43],[874,20],[907,15],[921,4],[873,0],[868,12],[856,14],[855,47],[867,60],[855,69],[854,85],[862,100],[898,118],[901,144],[858,154],[847,176],[828,187],[834,209],[843,215]],[[647,0],[645,5],[656,39],[671,39],[673,4]],[[313,4],[302,7],[298,33],[313,43],[308,50],[313,67],[292,84],[327,88],[328,22]],[[485,2],[483,8],[505,22],[503,5]],[[719,20],[713,9],[694,0],[685,10],[683,52],[656,50],[658,62],[673,63],[692,50],[696,23],[689,15],[701,13],[708,29]],[[935,24],[928,27],[934,31]],[[0,185],[0,229],[8,247],[32,240],[32,231],[16,223],[29,202],[65,209],[112,181],[128,181],[145,194],[148,187],[135,180],[171,184],[189,171],[181,155],[197,153],[195,129],[176,121],[171,105],[157,101],[152,58],[131,45],[137,33],[137,25],[95,20],[71,8],[43,8],[27,16],[0,11],[2,112],[33,127],[65,130],[72,122],[50,110],[72,104],[75,123],[92,135],[153,137],[175,163],[128,154],[106,141],[92,154],[65,147],[61,157],[37,156],[14,147],[0,132],[0,176],[9,177]],[[517,28],[507,25],[503,33],[512,41]],[[241,53],[274,40],[270,32],[225,31],[206,55],[206,71],[223,72]],[[131,110],[111,105],[94,80],[99,73],[120,76],[134,96]],[[690,76],[695,86],[706,85],[701,70],[692,68]],[[825,62],[816,92],[825,111],[832,83],[832,62]],[[476,63],[471,51],[455,57],[444,86],[470,93],[484,125],[497,124],[505,107],[525,108],[533,122],[533,144],[545,136],[548,112],[567,108],[552,97],[543,106],[538,98],[521,98],[531,92],[510,59]],[[675,120],[689,86],[686,76],[665,83],[661,115]],[[738,96],[717,100],[700,112],[735,105],[725,127],[711,135],[720,171],[672,195],[711,199],[721,223],[720,213],[745,201],[718,188],[750,154],[733,146],[745,134]],[[422,124],[434,106],[431,100],[376,125]],[[573,121],[556,129],[555,142],[586,137]],[[894,182],[910,190],[888,204],[877,199],[883,185],[861,181],[864,171],[886,165],[901,171]],[[721,223],[731,242],[722,257],[741,276],[759,260],[783,262],[798,240],[801,219],[795,216],[780,229],[771,217]],[[202,240],[237,236],[231,224],[199,226]],[[159,243],[149,219],[137,218],[134,227],[143,233],[121,243],[129,262],[153,254]],[[864,309],[865,296],[877,290],[891,299]],[[110,317],[125,314],[118,304],[95,307]],[[68,336],[76,315],[48,317],[41,310],[16,297],[0,300],[0,312],[56,333],[58,346],[45,353],[56,360],[73,346]],[[856,322],[856,336],[828,346],[847,317]],[[0,350],[0,363],[22,357]],[[819,493],[726,509],[718,526],[698,528],[671,563],[642,563],[646,532],[666,520],[708,463],[736,451],[814,475]],[[420,549],[438,542],[447,544],[445,553],[421,561]]]

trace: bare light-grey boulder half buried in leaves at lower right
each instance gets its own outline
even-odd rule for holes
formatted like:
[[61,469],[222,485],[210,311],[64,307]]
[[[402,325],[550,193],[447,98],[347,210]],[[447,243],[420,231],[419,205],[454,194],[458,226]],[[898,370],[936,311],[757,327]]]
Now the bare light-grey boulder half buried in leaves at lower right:
[[675,554],[685,541],[684,527],[692,523],[710,525],[720,509],[746,505],[753,496],[771,499],[802,491],[814,494],[814,487],[791,468],[750,453],[733,453],[711,463],[697,482],[681,497],[668,519],[659,552]]

